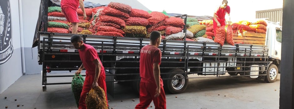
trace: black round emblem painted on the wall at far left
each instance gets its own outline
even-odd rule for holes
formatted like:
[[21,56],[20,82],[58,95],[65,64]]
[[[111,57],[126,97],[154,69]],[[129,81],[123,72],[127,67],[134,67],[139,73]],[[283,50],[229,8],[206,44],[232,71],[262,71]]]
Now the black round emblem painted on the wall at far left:
[[9,0],[0,0],[0,65],[12,56],[12,19]]

